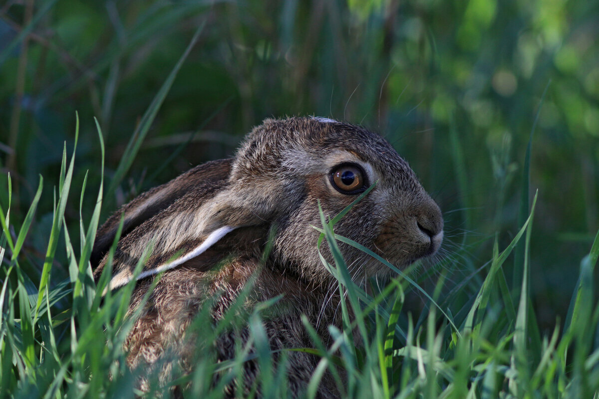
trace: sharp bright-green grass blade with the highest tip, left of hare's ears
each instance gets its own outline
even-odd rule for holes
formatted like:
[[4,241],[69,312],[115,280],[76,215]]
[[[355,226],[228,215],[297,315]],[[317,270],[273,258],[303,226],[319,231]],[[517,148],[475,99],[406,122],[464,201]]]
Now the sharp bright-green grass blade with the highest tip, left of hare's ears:
[[[75,164],[75,150],[77,148],[77,139],[79,137],[79,116],[75,114],[75,144],[73,146],[73,154],[71,157],[71,162],[69,163],[69,169],[66,174],[63,174],[63,170],[60,173],[60,180],[62,184],[60,184],[60,196],[58,199],[58,206],[56,207],[56,211],[52,220],[52,229],[50,230],[50,239],[48,243],[48,249],[46,251],[46,258],[44,261],[44,267],[41,272],[40,278],[40,288],[38,290],[38,300],[37,306],[35,307],[35,313],[37,316],[37,312],[41,306],[42,299],[44,294],[47,293],[48,285],[50,283],[50,270],[52,270],[52,263],[54,261],[54,256],[56,253],[56,246],[58,245],[58,239],[60,235],[60,227],[62,226],[62,219],[65,214],[66,209],[66,200],[69,195],[69,188],[71,187],[71,178],[73,174],[73,167]],[[66,152],[63,153],[62,164],[66,163]],[[64,176],[64,177],[63,177]]]

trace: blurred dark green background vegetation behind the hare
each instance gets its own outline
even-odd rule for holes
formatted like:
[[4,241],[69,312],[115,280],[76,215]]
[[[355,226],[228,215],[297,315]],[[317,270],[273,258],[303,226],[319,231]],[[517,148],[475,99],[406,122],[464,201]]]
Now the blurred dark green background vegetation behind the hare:
[[459,284],[484,270],[495,236],[503,248],[518,232],[540,107],[530,183],[531,195],[539,190],[534,307],[546,328],[564,315],[599,228],[599,3],[586,0],[1,2],[0,203],[6,209],[10,172],[11,222],[20,223],[44,176],[25,246],[31,264],[43,264],[75,111],[81,128],[66,210],[74,226],[87,170],[84,220],[99,187],[93,117],[110,184],[199,26],[102,220],[191,166],[231,156],[263,118],[331,117],[380,132],[410,162],[444,211],[445,270]]

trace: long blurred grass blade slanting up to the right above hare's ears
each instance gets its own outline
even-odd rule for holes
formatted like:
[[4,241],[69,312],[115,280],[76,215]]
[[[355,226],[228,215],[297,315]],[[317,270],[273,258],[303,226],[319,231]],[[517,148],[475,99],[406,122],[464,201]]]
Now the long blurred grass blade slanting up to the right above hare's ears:
[[189,42],[189,45],[187,45],[187,48],[181,55],[179,61],[177,61],[173,70],[162,84],[162,87],[160,88],[160,90],[158,90],[158,93],[156,93],[156,96],[152,100],[152,103],[150,103],[150,106],[146,110],[146,113],[141,118],[140,123],[135,129],[133,135],[131,136],[129,143],[125,148],[125,152],[121,157],[119,166],[117,166],[116,172],[114,172],[113,179],[110,182],[110,185],[108,186],[107,197],[109,199],[113,197],[113,194],[116,191],[117,186],[120,184],[122,179],[125,178],[126,173],[129,171],[129,167],[131,167],[133,160],[135,159],[135,156],[137,155],[137,152],[141,147],[141,143],[146,138],[147,132],[150,130],[150,126],[152,126],[154,118],[156,117],[156,114],[158,114],[158,110],[161,108],[162,102],[164,102],[164,99],[167,97],[167,94],[171,89],[171,86],[173,85],[173,81],[177,77],[177,74],[179,74],[179,70],[181,69],[183,62],[187,59],[187,56],[189,55],[193,46],[198,41],[200,33],[204,30],[204,25],[205,22],[202,22],[198,29],[196,29],[195,33],[193,34],[193,38]]

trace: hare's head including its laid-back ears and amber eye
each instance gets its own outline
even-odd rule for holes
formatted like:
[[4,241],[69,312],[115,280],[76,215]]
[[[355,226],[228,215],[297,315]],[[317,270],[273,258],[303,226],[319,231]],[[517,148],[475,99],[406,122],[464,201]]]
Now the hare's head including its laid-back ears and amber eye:
[[[269,233],[274,267],[326,281],[330,275],[317,254],[319,232],[313,228],[321,226],[317,203],[332,218],[373,184],[335,233],[398,267],[434,254],[443,239],[441,211],[406,161],[379,135],[324,118],[265,120],[234,159],[192,169],[113,215],[100,230],[95,254],[106,251],[124,214],[113,288],[131,279],[149,245],[153,253],[139,278],[180,266],[208,248],[234,252],[235,243],[264,245]],[[233,234],[238,237],[231,240]],[[231,248],[222,248],[224,242]],[[356,279],[388,274],[364,252],[340,248]],[[329,256],[326,249],[324,254]]]

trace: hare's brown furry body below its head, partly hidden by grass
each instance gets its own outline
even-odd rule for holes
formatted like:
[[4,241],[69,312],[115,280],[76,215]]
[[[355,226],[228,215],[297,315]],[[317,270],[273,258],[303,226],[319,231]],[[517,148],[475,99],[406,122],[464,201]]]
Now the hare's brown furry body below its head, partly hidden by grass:
[[[256,278],[256,270],[259,270]],[[192,370],[193,359],[198,357],[195,352],[195,338],[186,336],[187,327],[192,324],[198,310],[206,299],[216,297],[216,303],[211,303],[212,315],[217,321],[226,312],[229,305],[237,299],[237,295],[250,278],[252,282],[251,303],[272,299],[284,294],[285,297],[269,309],[269,315],[264,318],[264,328],[270,340],[270,349],[275,351],[273,359],[279,358],[279,350],[285,348],[310,348],[313,342],[301,323],[301,315],[308,315],[311,324],[318,333],[326,337],[326,327],[334,323],[334,303],[321,314],[325,297],[322,291],[314,290],[294,278],[283,278],[279,273],[273,273],[268,267],[262,267],[250,257],[241,256],[228,261],[219,267],[217,272],[198,272],[193,268],[182,267],[171,270],[163,276],[160,284],[153,292],[149,304],[144,309],[143,315],[135,323],[125,343],[129,351],[129,364],[132,367],[147,366],[149,368],[161,360],[165,350],[170,350],[170,357],[177,359],[177,366],[183,370]],[[142,300],[150,281],[141,282],[136,288],[132,309]],[[248,302],[250,302],[248,301]],[[340,316],[340,312],[339,316]],[[207,332],[205,326],[202,330],[194,329],[193,334]],[[188,333],[189,334],[189,333]],[[248,332],[241,330],[228,330],[221,334],[214,342],[218,361],[235,357],[235,344],[245,343]],[[186,337],[185,340],[181,339]],[[325,339],[325,342],[327,340]],[[310,379],[318,359],[304,352],[291,352],[288,354],[287,376],[289,389],[292,396],[301,392]],[[167,367],[175,363],[168,361]],[[161,378],[171,376],[170,369],[159,370]],[[255,360],[250,360],[244,367],[245,385],[251,386],[256,371]],[[163,381],[166,383],[168,381]],[[319,387],[321,397],[337,397],[331,383],[325,382]],[[229,392],[233,396],[234,392]],[[243,395],[242,395],[243,397]]]

